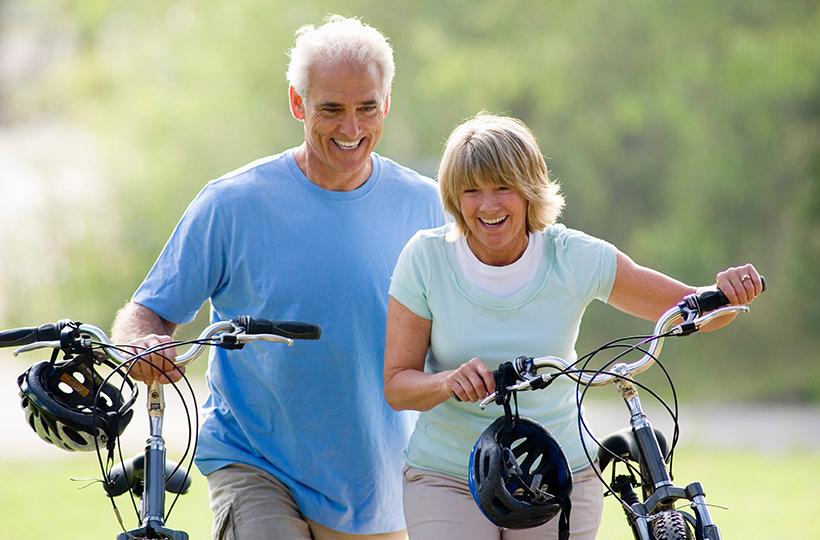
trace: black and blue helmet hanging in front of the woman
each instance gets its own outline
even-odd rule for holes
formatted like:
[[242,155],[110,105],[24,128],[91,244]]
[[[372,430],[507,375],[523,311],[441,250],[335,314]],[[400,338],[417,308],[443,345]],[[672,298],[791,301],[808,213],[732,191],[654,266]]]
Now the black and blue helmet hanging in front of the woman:
[[473,447],[468,480],[481,511],[499,527],[537,527],[561,513],[559,529],[568,536],[572,473],[561,445],[538,422],[493,422]]

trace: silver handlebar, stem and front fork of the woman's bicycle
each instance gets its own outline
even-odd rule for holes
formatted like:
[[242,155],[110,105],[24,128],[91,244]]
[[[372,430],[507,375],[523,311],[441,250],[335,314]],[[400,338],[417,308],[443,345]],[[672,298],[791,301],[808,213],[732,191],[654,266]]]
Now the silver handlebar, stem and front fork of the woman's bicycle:
[[[615,384],[630,414],[631,434],[634,437],[634,448],[637,451],[637,455],[631,457],[637,458],[641,482],[639,484],[634,476],[630,475],[624,477],[626,481],[617,488],[613,486],[613,490],[618,491],[619,499],[624,506],[627,520],[636,540],[655,540],[656,535],[652,532],[653,521],[669,517],[680,522],[678,525],[681,528],[680,538],[689,537],[682,530],[683,527],[687,527],[682,521],[685,520],[688,526],[694,528],[697,540],[720,540],[720,532],[709,513],[703,486],[699,482],[691,483],[685,488],[673,484],[661,443],[641,406],[637,385],[632,380],[633,375],[647,370],[654,363],[655,358],[660,354],[666,336],[689,335],[717,317],[749,310],[746,306],[727,306],[701,314],[704,308],[699,301],[702,299],[703,296],[693,295],[691,299],[687,297],[684,302],[664,313],[655,325],[654,335],[636,346],[637,348],[648,345],[643,357],[635,362],[617,363],[608,372],[585,373],[577,370],[569,362],[554,356],[522,357],[517,358],[514,362],[515,370],[522,381],[507,387],[507,391],[537,390],[545,388],[553,379],[561,376],[570,377],[580,386],[585,387]],[[675,326],[678,322],[680,324]],[[538,371],[545,368],[550,368],[552,371],[539,375]],[[479,403],[479,406],[484,409],[495,400],[495,395],[495,392],[491,393]],[[606,443],[602,446],[605,447]],[[622,458],[615,454],[611,457],[616,460]],[[638,485],[643,488],[643,502],[634,491]],[[675,508],[677,501],[684,500],[688,502],[694,515]]]

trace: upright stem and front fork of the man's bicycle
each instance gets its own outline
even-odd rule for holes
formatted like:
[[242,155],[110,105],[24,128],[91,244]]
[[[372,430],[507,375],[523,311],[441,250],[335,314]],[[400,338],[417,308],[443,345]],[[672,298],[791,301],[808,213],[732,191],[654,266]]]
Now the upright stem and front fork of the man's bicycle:
[[145,491],[140,498],[142,526],[118,534],[117,540],[188,540],[187,533],[165,527],[165,439],[162,438],[164,414],[165,394],[162,384],[154,381],[148,389],[150,437],[145,444]]

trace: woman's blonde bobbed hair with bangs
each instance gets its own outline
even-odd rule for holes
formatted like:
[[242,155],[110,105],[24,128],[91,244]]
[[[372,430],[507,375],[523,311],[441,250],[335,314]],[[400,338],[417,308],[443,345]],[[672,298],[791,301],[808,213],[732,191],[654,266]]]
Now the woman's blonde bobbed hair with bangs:
[[527,232],[543,231],[564,208],[535,135],[508,116],[482,111],[456,127],[444,146],[438,181],[444,209],[455,221],[450,240],[469,233],[461,214],[465,189],[501,184],[520,193],[527,201]]

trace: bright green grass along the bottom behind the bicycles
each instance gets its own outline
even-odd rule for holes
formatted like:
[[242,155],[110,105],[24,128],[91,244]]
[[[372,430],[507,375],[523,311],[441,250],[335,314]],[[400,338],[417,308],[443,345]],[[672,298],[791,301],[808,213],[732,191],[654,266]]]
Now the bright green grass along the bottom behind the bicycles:
[[[820,538],[820,467],[817,453],[679,452],[676,483],[703,483],[722,537],[771,540]],[[0,461],[0,524],[3,538],[112,540],[119,528],[102,488],[74,478],[98,477],[95,457],[68,455],[50,462]],[[168,524],[191,540],[210,538],[211,512],[205,479],[194,470],[190,493],[180,498]],[[136,519],[125,497],[117,500],[127,528]],[[598,535],[627,540],[620,507],[607,499]]]

